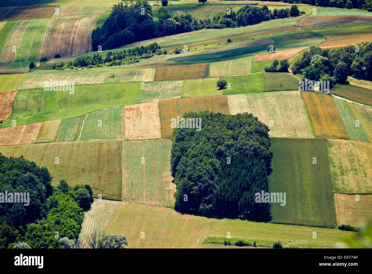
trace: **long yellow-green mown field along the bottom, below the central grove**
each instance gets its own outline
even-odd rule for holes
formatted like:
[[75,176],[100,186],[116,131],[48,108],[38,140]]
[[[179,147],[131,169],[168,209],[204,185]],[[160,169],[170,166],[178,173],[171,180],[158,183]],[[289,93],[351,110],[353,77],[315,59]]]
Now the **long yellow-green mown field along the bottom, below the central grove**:
[[[128,202],[115,207],[105,231],[125,235],[128,248],[202,248],[202,243],[210,237],[227,240],[227,232],[232,239],[257,239],[257,243],[271,242],[272,245],[280,240],[284,247],[330,248],[355,235],[355,232],[321,227],[217,220]],[[312,238],[314,231],[316,239]],[[144,239],[140,237],[141,232]]]

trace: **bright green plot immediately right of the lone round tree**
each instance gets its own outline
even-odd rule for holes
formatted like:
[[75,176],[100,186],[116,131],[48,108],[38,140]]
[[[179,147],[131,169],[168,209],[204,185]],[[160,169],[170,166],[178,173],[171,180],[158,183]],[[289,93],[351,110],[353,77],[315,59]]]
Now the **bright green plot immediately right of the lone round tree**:
[[225,79],[231,84],[231,89],[224,89],[223,94],[240,94],[265,91],[263,73],[221,77],[221,79]]

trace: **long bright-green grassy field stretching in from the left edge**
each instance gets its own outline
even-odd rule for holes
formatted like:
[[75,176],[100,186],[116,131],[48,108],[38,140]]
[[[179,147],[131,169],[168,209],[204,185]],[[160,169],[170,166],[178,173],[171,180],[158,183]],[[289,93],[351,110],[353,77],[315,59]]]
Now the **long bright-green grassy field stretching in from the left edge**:
[[27,125],[81,116],[102,108],[137,104],[142,92],[140,83],[75,86],[74,94],[42,88],[21,90],[15,98],[12,114],[0,127],[11,126],[12,120],[16,120],[17,125]]

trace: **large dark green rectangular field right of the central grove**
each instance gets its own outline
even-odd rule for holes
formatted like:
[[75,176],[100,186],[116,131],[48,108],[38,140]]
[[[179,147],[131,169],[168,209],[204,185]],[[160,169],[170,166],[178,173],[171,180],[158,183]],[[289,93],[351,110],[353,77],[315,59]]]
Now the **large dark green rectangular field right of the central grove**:
[[272,222],[335,227],[325,139],[271,138],[270,151],[273,171],[269,192],[286,193],[286,205],[271,204]]

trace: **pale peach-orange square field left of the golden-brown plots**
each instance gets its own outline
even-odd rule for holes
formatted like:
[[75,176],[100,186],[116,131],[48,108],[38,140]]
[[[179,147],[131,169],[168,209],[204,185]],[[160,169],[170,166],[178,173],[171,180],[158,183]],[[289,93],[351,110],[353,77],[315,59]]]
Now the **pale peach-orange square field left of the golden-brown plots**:
[[158,102],[150,102],[124,107],[124,139],[160,139],[160,119]]

